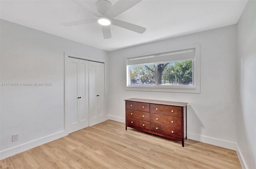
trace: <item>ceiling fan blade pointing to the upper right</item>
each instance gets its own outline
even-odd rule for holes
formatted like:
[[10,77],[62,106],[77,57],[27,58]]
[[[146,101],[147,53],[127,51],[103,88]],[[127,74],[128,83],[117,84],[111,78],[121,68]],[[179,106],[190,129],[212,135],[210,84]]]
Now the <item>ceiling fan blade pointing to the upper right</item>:
[[119,0],[104,14],[104,16],[115,18],[141,1],[142,0]]

